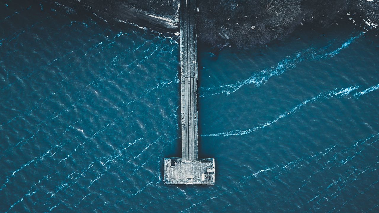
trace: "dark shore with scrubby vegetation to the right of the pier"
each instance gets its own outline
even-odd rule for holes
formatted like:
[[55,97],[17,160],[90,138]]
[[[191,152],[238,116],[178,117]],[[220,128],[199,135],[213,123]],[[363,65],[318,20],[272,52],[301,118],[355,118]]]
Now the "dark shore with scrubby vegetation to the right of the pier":
[[304,24],[329,27],[344,19],[376,28],[379,23],[378,0],[202,0],[198,6],[199,39],[218,47],[267,44]]

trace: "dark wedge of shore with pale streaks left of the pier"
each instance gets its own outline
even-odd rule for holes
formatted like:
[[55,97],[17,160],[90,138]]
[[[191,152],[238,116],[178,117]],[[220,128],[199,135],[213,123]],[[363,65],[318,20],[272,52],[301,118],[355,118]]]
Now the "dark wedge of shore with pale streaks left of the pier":
[[44,0],[79,11],[86,9],[105,20],[132,22],[159,31],[179,28],[179,0]]

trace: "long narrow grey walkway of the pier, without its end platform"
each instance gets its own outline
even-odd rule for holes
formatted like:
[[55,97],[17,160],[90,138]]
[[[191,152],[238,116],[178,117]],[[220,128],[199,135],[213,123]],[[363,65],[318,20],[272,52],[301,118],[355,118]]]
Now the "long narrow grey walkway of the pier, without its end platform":
[[180,88],[182,159],[197,160],[197,46],[196,1],[180,6]]

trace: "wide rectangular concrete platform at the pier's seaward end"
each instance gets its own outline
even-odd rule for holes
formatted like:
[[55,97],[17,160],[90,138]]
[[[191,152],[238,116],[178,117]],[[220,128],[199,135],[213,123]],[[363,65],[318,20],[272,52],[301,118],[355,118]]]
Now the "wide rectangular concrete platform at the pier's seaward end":
[[167,184],[215,184],[213,158],[183,161],[182,158],[164,158],[164,180]]

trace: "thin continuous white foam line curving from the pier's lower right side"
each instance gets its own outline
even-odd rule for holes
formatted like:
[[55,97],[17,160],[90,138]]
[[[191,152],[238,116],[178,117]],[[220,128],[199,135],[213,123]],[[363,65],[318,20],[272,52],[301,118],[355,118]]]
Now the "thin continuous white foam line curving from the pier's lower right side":
[[277,116],[274,120],[272,121],[268,121],[266,122],[265,124],[260,124],[254,128],[251,128],[251,129],[247,129],[247,130],[231,130],[231,131],[226,131],[226,132],[221,132],[221,133],[216,133],[216,134],[207,134],[207,135],[202,135],[202,136],[214,136],[214,137],[217,137],[217,136],[224,136],[224,137],[228,137],[228,136],[232,136],[232,135],[247,135],[249,133],[252,133],[252,132],[255,132],[261,128],[264,128],[266,126],[269,126],[275,122],[277,122],[279,119],[282,119],[284,117],[286,117],[287,115],[289,114],[292,114],[294,113],[296,110],[298,110],[299,108],[303,107],[304,105],[306,105],[307,103],[312,103],[312,102],[315,102],[316,100],[319,100],[319,99],[329,99],[331,97],[334,97],[334,96],[338,96],[338,97],[343,97],[343,96],[347,96],[350,92],[358,89],[359,86],[350,86],[348,88],[344,88],[344,89],[335,89],[333,91],[330,91],[330,92],[327,92],[327,93],[324,93],[324,94],[319,94],[311,99],[307,99],[301,103],[299,103],[298,105],[296,105],[296,107],[292,108],[291,110],[283,113],[283,114],[280,114],[279,116]]

